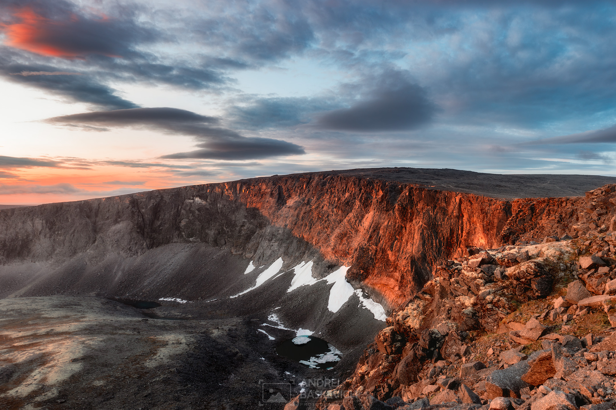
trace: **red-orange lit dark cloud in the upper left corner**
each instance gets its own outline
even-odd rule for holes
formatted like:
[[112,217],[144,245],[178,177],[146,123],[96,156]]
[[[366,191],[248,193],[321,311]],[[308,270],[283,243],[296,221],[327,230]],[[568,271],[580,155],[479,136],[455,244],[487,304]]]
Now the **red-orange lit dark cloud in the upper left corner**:
[[[15,12],[20,22],[4,25],[8,40],[5,42],[10,47],[27,50],[33,53],[50,57],[83,58],[87,53],[107,55],[108,57],[120,57],[110,50],[88,49],[80,38],[80,31],[89,24],[105,24],[109,22],[107,16],[100,20],[84,21],[71,14],[67,20],[51,20],[36,14],[30,7],[23,7]],[[87,28],[86,28],[87,31]],[[89,33],[86,33],[89,34]]]

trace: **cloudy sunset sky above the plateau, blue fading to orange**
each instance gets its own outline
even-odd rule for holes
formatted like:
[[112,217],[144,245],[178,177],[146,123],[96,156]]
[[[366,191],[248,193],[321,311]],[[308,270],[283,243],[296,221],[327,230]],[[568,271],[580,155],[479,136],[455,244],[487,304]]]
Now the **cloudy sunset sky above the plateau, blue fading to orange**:
[[616,176],[616,3],[0,0],[0,203],[375,167]]

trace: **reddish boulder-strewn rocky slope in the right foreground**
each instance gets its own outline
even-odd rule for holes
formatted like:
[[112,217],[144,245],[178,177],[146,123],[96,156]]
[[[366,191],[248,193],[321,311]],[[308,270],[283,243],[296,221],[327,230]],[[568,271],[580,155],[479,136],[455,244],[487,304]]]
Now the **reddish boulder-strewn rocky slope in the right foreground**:
[[613,191],[588,192],[575,238],[472,247],[439,266],[387,318],[351,377],[317,403],[304,393],[285,409],[614,408]]

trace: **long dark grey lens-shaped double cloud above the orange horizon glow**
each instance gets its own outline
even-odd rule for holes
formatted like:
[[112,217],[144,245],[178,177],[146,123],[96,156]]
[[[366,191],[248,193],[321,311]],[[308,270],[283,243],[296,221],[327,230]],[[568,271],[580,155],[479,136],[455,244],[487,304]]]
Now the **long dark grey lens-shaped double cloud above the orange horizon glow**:
[[245,137],[233,130],[216,127],[219,119],[177,108],[132,108],[84,112],[47,119],[52,124],[94,124],[103,127],[145,127],[173,134],[190,135],[201,149],[162,156],[162,159],[261,159],[301,155],[301,146],[272,138]]

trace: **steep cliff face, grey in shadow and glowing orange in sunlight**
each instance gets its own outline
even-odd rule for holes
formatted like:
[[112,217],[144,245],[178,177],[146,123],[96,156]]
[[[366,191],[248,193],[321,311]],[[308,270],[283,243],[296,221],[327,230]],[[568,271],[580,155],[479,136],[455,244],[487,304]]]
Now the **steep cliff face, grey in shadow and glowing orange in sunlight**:
[[336,171],[272,176],[1,210],[0,262],[97,263],[208,243],[264,264],[312,249],[331,268],[351,266],[349,282],[392,309],[466,246],[575,232],[586,202],[494,199]]

